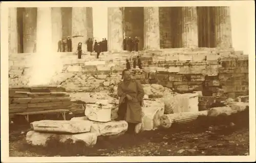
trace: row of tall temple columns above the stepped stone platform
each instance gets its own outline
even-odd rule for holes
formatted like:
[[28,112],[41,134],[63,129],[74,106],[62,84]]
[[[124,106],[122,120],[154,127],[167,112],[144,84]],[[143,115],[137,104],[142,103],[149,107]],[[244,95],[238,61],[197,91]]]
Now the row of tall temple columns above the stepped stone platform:
[[[33,52],[42,26],[55,45],[74,37],[73,46],[93,38],[92,7],[10,8],[10,53]],[[108,8],[108,50],[123,49],[124,36],[138,37],[139,49],[232,47],[229,7],[112,7]],[[41,23],[41,21],[48,20]],[[49,21],[51,20],[51,21]],[[38,45],[40,46],[40,45]],[[44,46],[44,45],[42,45]],[[56,49],[55,49],[56,50]]]

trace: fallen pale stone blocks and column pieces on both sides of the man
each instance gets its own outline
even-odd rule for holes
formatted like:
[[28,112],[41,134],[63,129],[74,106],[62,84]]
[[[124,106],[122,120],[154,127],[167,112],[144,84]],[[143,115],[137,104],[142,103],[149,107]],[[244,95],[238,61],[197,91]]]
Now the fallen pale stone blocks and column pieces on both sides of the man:
[[[136,126],[135,132],[155,130],[159,127],[169,128],[172,124],[189,123],[199,116],[229,116],[248,110],[247,96],[223,101],[223,107],[212,107],[199,111],[199,98],[202,92],[178,94],[160,85],[144,85],[144,105],[142,106],[142,123]],[[151,96],[166,92],[163,96]],[[168,92],[168,93],[167,93]],[[127,131],[125,121],[115,121],[118,111],[118,99],[106,92],[71,93],[72,102],[84,106],[84,116],[74,117],[70,121],[42,120],[31,123],[27,133],[27,143],[47,146],[48,141],[83,142],[92,147],[98,138],[116,138]]]

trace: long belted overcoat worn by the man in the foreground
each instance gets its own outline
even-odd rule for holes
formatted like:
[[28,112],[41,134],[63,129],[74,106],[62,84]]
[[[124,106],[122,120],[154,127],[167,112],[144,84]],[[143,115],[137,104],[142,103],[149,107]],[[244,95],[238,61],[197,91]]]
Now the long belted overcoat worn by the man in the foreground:
[[132,96],[132,100],[126,100],[127,110],[125,121],[129,123],[140,123],[142,118],[141,105],[143,103],[144,90],[143,86],[136,80],[131,79],[128,83],[122,81],[117,88],[119,105],[125,101],[125,95]]

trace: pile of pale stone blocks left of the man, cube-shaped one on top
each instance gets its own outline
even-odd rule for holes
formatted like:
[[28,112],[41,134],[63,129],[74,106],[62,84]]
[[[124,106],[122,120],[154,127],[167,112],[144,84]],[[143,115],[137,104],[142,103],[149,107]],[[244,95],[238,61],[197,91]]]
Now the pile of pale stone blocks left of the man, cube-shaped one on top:
[[112,105],[108,101],[86,106],[85,117],[74,117],[70,121],[41,120],[31,123],[27,143],[47,146],[50,140],[65,143],[83,142],[93,147],[98,136],[120,135],[127,130],[125,121],[111,121]]

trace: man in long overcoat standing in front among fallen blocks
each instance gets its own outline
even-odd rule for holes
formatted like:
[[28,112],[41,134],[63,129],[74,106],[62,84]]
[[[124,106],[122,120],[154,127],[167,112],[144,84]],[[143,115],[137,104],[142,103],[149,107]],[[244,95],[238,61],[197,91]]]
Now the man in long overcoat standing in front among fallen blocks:
[[[118,120],[128,123],[128,133],[134,133],[137,124],[142,120],[142,108],[144,90],[136,79],[132,79],[131,72],[122,71],[123,81],[117,87],[119,98]],[[140,125],[138,125],[140,126]],[[139,128],[141,129],[141,128]]]

